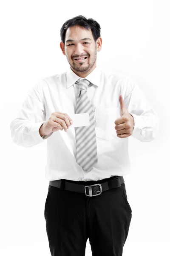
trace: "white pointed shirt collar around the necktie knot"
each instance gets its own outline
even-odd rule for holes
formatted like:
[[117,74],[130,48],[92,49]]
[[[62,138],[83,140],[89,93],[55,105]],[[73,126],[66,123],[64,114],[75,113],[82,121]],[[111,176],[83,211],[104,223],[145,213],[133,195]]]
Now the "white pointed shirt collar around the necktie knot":
[[[100,82],[100,76],[101,76],[101,69],[99,67],[96,67],[88,76],[85,77],[85,79],[88,79],[92,84],[99,86]],[[75,84],[75,82],[81,78],[76,75],[76,73],[73,72],[71,67],[68,68],[66,72],[66,78],[67,78],[67,88],[71,85]]]

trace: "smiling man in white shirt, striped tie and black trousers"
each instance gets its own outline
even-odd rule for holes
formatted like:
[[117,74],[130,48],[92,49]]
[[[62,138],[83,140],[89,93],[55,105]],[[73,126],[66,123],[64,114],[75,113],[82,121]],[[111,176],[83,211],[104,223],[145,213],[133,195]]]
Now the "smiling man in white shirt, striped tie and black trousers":
[[96,67],[100,25],[77,16],[61,30],[67,72],[36,84],[11,122],[17,145],[47,140],[45,221],[52,256],[122,256],[132,218],[124,175],[128,137],[152,141],[159,118],[127,76]]

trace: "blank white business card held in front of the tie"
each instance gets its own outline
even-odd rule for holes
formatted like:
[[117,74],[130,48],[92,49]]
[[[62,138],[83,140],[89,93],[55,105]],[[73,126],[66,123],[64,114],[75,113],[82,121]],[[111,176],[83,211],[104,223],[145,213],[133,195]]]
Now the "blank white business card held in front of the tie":
[[73,124],[69,127],[79,127],[90,125],[89,113],[79,113],[69,115],[73,121]]

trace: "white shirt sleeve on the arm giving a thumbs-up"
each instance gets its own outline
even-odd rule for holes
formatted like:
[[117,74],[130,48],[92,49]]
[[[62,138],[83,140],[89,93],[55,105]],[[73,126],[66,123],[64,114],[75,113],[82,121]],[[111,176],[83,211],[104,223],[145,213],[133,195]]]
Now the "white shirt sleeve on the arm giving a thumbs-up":
[[127,78],[124,102],[127,110],[134,118],[132,136],[140,141],[154,140],[159,133],[160,119],[140,87],[130,77]]

